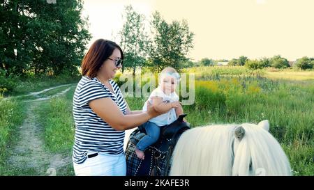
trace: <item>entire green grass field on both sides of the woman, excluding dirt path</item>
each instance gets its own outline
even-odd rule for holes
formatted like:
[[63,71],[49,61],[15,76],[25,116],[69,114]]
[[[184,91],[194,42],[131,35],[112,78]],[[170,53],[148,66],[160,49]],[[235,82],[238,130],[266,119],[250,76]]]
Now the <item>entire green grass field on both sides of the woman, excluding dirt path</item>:
[[[184,112],[188,113],[187,120],[193,127],[214,123],[257,123],[267,119],[271,134],[281,143],[290,159],[293,174],[314,175],[313,70],[250,71],[243,67],[208,67],[191,68],[185,72],[194,72],[196,79],[195,104],[184,106]],[[58,93],[65,88],[42,96]],[[65,95],[41,102],[34,112],[43,127],[45,150],[52,154],[67,157],[72,154],[74,88],[75,85]],[[21,104],[22,100],[26,99],[0,100],[1,108],[5,108],[0,111],[2,168],[7,167],[4,160],[6,147],[17,141],[13,136],[27,110],[27,103]],[[127,97],[126,100],[133,110],[142,109],[145,101],[142,97]],[[36,171],[29,171],[29,175],[34,173]],[[0,174],[18,175],[1,171]],[[57,175],[74,175],[72,165],[60,168]]]

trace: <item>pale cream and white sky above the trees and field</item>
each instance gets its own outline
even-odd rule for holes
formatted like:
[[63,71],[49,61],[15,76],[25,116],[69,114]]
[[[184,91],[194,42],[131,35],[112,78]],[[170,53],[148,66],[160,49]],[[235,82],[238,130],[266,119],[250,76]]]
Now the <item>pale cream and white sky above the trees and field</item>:
[[[124,7],[169,23],[186,19],[194,36],[188,57],[232,59],[314,57],[314,0],[84,0],[93,38],[117,40]],[[88,46],[89,46],[88,45]]]

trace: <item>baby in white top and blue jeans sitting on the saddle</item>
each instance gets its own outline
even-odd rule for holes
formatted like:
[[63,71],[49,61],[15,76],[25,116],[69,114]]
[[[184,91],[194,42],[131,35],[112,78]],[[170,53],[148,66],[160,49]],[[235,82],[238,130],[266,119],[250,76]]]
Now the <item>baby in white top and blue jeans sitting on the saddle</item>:
[[[179,96],[174,91],[179,81],[180,75],[174,68],[165,68],[160,73],[159,86],[153,90],[147,101],[154,106],[156,111],[170,110],[144,123],[147,135],[141,138],[136,145],[135,153],[138,158],[144,159],[145,148],[156,143],[160,134],[160,126],[169,125],[177,120],[178,116],[183,114]],[[143,106],[143,111],[147,111],[147,102]]]

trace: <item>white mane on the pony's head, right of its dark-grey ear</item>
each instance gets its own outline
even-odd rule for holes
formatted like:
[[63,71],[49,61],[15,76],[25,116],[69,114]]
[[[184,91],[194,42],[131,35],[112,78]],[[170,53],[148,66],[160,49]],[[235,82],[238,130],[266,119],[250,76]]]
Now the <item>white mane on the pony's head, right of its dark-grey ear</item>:
[[287,156],[274,136],[255,124],[241,126],[246,134],[234,152],[232,175],[291,175]]

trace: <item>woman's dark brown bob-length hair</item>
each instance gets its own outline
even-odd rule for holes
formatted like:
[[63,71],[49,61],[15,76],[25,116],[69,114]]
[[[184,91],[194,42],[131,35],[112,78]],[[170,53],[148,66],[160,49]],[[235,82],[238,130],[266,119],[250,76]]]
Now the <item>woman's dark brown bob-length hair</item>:
[[116,48],[121,52],[121,59],[124,59],[124,53],[121,47],[115,42],[104,39],[96,40],[91,47],[89,47],[89,51],[82,60],[82,75],[89,78],[96,77],[103,62],[112,55],[112,52]]

